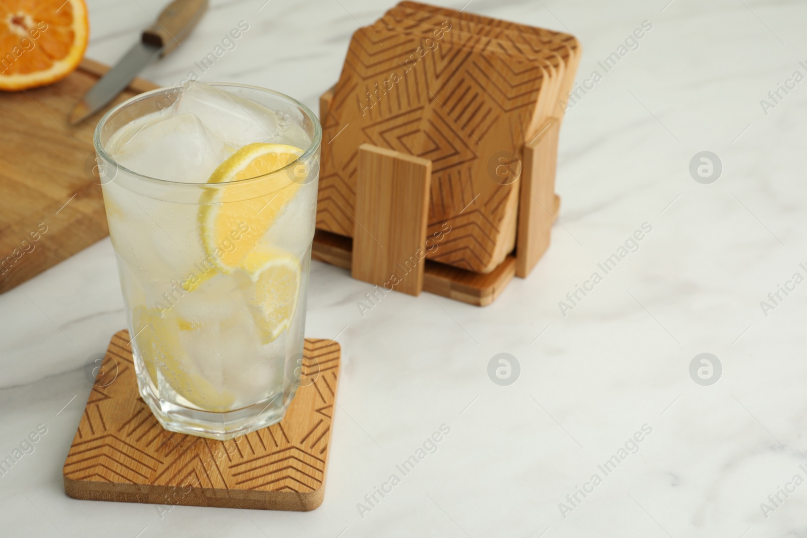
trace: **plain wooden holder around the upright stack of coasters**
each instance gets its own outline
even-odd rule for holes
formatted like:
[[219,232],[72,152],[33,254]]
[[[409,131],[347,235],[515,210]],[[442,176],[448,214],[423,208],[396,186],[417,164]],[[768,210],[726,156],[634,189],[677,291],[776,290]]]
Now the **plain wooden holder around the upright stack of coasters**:
[[[333,90],[320,96],[324,123]],[[439,240],[426,237],[432,163],[421,157],[362,144],[358,148],[353,238],[316,230],[312,257],[349,269],[384,291],[421,291],[484,307],[513,276],[526,278],[550,244],[560,197],[554,193],[560,122],[550,118],[521,150],[516,250],[491,273],[473,273],[436,261],[425,252]],[[324,141],[327,144],[327,141]]]

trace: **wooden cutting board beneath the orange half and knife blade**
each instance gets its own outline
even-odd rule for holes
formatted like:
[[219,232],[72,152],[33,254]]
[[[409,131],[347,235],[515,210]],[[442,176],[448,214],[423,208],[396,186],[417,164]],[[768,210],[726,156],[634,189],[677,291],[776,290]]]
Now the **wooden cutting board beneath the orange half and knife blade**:
[[85,59],[54,85],[0,94],[0,293],[109,234],[93,131],[111,106],[157,88],[136,78],[77,126],[67,115],[109,68]]

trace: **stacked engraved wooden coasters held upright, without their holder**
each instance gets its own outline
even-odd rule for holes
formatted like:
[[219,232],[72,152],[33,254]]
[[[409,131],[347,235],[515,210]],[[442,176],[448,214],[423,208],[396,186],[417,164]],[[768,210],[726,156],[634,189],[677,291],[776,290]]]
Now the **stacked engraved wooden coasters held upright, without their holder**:
[[316,226],[353,236],[358,146],[394,149],[432,161],[427,234],[444,237],[427,257],[491,271],[515,244],[520,188],[491,159],[521,158],[562,117],[579,53],[568,34],[414,2],[360,28],[324,118]]

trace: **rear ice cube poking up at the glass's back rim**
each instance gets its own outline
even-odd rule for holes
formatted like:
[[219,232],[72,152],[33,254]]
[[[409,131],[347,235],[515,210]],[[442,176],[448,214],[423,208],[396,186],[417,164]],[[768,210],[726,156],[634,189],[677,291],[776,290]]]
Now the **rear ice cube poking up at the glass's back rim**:
[[225,144],[240,148],[278,136],[277,115],[266,106],[240,98],[222,86],[195,82],[177,103],[177,114],[199,116],[205,127],[218,133]]

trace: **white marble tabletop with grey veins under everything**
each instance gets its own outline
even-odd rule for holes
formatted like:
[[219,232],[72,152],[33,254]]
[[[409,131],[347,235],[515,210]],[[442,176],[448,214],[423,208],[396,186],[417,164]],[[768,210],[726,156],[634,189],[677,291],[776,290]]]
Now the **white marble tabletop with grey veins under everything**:
[[[391,5],[264,2],[213,0],[186,44],[144,77],[181,81],[244,20],[249,31],[203,80],[269,86],[316,110],[351,33]],[[307,335],[338,335],[344,348],[316,511],[165,512],[67,498],[61,466],[90,392],[82,366],[124,326],[111,244],[2,294],[0,458],[39,424],[47,433],[0,477],[0,534],[805,536],[807,486],[792,481],[807,479],[807,284],[788,282],[807,276],[807,81],[788,79],[807,75],[807,4],[667,2],[466,7],[583,42],[578,81],[590,90],[562,127],[560,223],[533,275],[486,308],[392,294],[362,317],[357,302],[371,286],[313,265]],[[111,63],[164,1],[89,3],[88,56]],[[643,21],[652,28],[638,48],[605,73],[598,61]],[[595,70],[601,77],[586,82]],[[773,101],[780,83],[791,89]],[[701,151],[721,160],[712,184],[689,172]],[[638,251],[604,274],[598,263],[643,223],[652,231]],[[594,272],[602,281],[586,284]],[[576,285],[592,291],[564,316],[558,302]],[[774,304],[779,285],[791,291]],[[510,386],[487,375],[500,352],[521,365]],[[701,352],[721,361],[711,386],[690,377]],[[360,510],[441,424],[450,433],[437,452]]]

